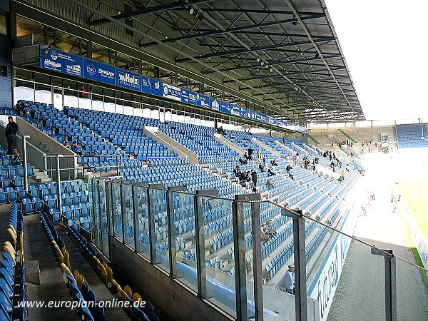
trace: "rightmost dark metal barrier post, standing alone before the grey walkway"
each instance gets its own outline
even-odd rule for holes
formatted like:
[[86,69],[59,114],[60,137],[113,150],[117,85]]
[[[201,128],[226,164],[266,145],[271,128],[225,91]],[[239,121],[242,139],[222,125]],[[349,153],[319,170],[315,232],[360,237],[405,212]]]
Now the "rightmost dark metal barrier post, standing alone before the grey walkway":
[[392,250],[372,248],[373,255],[384,257],[385,265],[385,320],[397,321],[397,267]]

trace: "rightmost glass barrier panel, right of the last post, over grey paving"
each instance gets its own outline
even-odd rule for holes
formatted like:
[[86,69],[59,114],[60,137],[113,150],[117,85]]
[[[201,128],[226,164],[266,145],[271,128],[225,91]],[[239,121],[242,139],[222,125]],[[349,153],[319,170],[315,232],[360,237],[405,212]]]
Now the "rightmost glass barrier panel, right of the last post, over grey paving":
[[[410,260],[414,260],[413,255]],[[428,320],[428,272],[397,257],[395,267],[397,320]]]

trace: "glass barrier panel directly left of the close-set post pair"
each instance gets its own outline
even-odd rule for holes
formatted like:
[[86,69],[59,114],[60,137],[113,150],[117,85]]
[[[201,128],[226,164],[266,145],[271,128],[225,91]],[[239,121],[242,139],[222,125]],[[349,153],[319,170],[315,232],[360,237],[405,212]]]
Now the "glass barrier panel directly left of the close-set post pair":
[[205,286],[208,300],[236,317],[232,200],[196,196],[203,215]]

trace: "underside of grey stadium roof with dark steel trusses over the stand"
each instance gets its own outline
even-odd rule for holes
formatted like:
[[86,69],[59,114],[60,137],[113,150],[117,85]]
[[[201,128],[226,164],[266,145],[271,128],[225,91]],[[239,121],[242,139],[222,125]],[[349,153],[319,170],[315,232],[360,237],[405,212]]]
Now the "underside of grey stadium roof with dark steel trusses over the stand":
[[89,1],[89,26],[146,29],[141,50],[170,51],[178,66],[235,86],[277,117],[364,119],[322,0],[132,0],[131,10],[114,14],[108,1]]

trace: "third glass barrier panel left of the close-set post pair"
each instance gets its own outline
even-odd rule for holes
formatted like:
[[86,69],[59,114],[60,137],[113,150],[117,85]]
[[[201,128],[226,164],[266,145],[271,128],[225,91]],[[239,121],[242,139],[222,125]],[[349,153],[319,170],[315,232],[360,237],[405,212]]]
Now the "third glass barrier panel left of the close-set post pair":
[[168,225],[166,223],[166,190],[149,188],[151,223],[153,224],[153,251],[155,252],[155,262],[163,270],[169,272],[169,243]]

